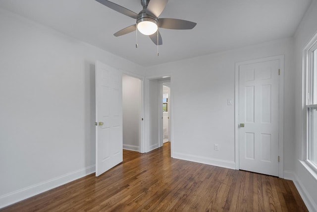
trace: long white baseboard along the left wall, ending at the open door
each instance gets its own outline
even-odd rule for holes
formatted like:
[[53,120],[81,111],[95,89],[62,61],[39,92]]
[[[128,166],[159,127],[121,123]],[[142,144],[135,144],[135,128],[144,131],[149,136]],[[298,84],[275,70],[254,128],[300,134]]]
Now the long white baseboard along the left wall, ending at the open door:
[[79,169],[77,171],[73,171],[67,174],[64,174],[59,177],[55,177],[53,179],[44,181],[42,183],[38,183],[14,192],[10,192],[8,194],[4,194],[0,196],[0,209],[19,201],[25,200],[27,198],[33,197],[40,193],[46,192],[50,189],[56,188],[58,186],[64,185],[71,181],[77,180],[81,177],[92,174],[96,171],[96,166],[91,165],[83,169]]

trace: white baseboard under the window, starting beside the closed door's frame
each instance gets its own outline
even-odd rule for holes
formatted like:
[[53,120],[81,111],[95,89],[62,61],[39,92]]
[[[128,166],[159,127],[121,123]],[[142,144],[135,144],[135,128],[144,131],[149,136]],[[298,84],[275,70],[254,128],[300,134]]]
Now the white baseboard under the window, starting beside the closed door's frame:
[[290,171],[284,171],[284,179],[292,180],[298,193],[301,195],[308,211],[310,212],[317,212],[317,204],[313,201],[311,196],[308,194],[307,190],[301,183],[299,177]]

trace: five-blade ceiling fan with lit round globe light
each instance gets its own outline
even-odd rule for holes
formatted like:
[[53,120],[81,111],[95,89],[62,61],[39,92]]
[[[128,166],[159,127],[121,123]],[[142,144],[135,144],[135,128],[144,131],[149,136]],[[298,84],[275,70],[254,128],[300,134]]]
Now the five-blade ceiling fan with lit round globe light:
[[149,35],[151,40],[156,45],[162,45],[162,37],[158,28],[193,29],[196,26],[196,23],[187,20],[159,18],[159,15],[164,10],[168,0],[141,0],[143,9],[139,12],[139,14],[108,0],[96,1],[117,12],[136,19],[136,24],[128,26],[114,33],[113,35],[116,37],[128,34],[138,29],[142,34]]

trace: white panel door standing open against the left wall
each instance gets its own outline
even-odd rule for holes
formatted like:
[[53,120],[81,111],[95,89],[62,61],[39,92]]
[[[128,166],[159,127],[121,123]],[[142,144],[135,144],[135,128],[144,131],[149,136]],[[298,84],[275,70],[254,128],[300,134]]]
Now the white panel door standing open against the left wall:
[[96,176],[122,162],[122,72],[96,62]]

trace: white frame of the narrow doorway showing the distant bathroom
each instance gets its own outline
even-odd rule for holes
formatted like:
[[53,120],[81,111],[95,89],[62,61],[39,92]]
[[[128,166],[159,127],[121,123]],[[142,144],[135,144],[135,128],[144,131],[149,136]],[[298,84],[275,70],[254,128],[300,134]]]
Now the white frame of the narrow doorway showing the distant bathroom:
[[[173,157],[173,95],[172,95],[172,75],[169,74],[164,74],[164,75],[155,75],[155,76],[147,76],[145,78],[145,90],[149,90],[149,83],[150,80],[152,79],[161,79],[161,78],[166,78],[166,77],[170,77],[170,94],[171,94],[171,98],[170,98],[170,114],[169,114],[169,118],[170,118],[170,154],[171,157]],[[163,80],[162,80],[163,82]],[[144,140],[144,148],[145,148],[145,152],[149,151],[149,142],[150,142],[150,122],[149,122],[149,118],[150,118],[150,114],[149,114],[149,92],[147,92],[147,95],[145,95],[145,140]],[[161,102],[161,100],[160,100]],[[159,113],[158,113],[159,114]],[[161,119],[159,118],[159,121],[161,121]],[[161,134],[159,134],[161,137]],[[160,142],[160,139],[158,138],[158,141]]]

